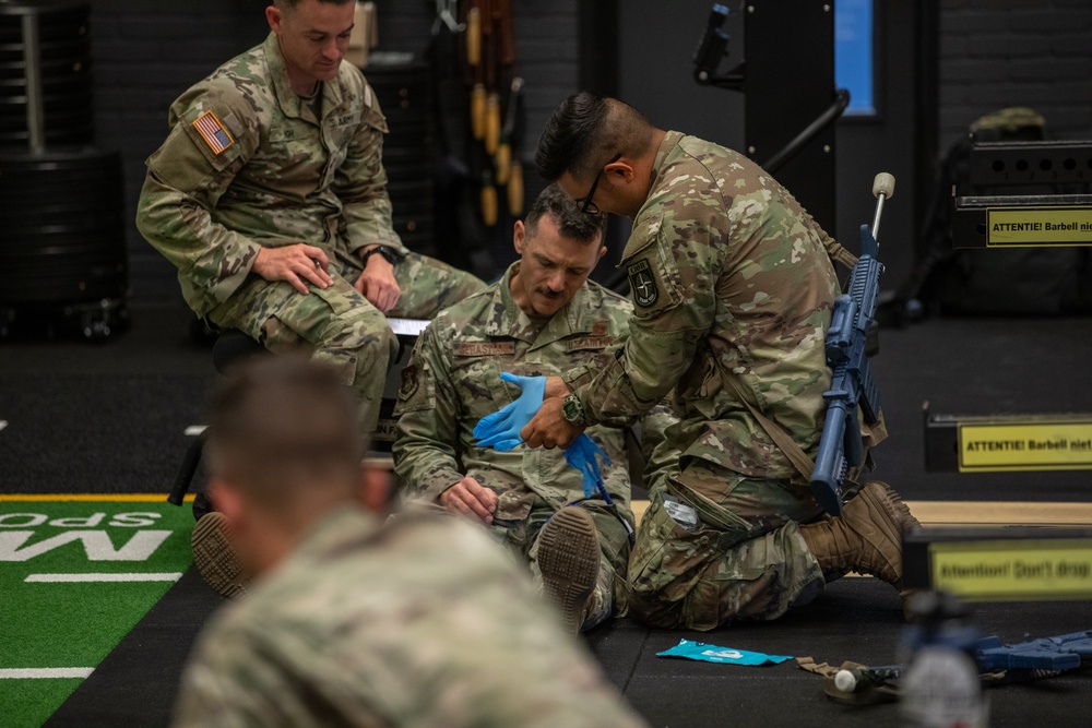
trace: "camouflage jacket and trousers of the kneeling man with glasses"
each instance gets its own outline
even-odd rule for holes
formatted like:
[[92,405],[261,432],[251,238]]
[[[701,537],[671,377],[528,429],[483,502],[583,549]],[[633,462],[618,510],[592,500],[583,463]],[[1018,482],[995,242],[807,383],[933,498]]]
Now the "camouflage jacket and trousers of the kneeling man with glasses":
[[[632,613],[708,630],[773,619],[821,587],[797,527],[821,509],[724,382],[815,455],[840,250],[752,162],[667,132],[622,253],[636,302],[625,354],[577,390],[595,422],[675,387],[681,422],[668,437],[681,473],[650,494],[630,558]],[[687,505],[689,528],[670,514]]]

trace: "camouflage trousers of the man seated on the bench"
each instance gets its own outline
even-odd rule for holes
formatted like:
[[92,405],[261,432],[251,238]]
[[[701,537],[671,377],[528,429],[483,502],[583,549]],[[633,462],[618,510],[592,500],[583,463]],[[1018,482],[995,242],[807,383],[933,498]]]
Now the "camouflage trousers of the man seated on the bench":
[[363,431],[372,432],[387,369],[399,351],[387,317],[431,319],[485,284],[447,263],[410,253],[394,266],[402,295],[383,314],[353,287],[361,270],[343,259],[331,260],[333,283],[325,289],[309,286],[307,296],[284,281],[251,275],[209,319],[224,329],[242,331],[274,354],[304,349],[314,360],[331,365],[359,396]]

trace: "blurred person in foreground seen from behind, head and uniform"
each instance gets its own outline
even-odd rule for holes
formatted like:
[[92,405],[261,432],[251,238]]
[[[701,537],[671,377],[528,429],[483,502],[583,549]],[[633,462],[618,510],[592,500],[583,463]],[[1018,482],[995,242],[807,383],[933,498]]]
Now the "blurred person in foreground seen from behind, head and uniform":
[[175,725],[643,725],[479,529],[360,508],[387,474],[329,368],[252,360],[210,415],[210,491],[258,576],[199,639]]

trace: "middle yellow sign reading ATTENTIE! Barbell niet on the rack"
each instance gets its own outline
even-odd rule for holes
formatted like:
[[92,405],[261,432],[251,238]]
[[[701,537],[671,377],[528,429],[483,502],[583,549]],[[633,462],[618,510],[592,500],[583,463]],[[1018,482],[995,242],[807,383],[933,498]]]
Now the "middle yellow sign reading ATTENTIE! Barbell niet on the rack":
[[960,422],[957,433],[961,472],[1092,468],[1092,420]]

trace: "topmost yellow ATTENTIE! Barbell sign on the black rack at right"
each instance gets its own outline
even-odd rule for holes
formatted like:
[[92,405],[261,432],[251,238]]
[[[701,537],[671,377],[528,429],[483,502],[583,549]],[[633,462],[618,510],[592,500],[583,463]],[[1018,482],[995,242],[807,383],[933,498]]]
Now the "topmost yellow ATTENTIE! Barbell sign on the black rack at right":
[[989,208],[986,246],[1092,246],[1090,207]]

